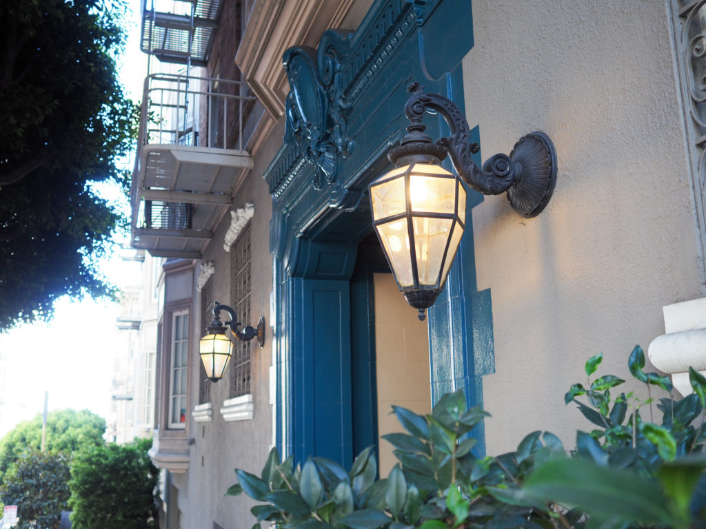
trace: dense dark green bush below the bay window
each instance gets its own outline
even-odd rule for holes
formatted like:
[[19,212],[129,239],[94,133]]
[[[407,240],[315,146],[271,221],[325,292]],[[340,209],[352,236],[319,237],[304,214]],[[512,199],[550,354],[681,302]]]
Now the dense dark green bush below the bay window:
[[151,439],[136,439],[76,456],[68,484],[74,529],[157,528],[157,469],[147,455],[150,446]]

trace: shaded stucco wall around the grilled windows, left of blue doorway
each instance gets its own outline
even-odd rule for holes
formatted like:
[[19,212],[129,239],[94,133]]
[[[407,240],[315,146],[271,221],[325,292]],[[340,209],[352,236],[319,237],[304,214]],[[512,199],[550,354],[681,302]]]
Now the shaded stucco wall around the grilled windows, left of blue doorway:
[[[282,138],[283,126],[273,130],[272,138]],[[213,419],[210,422],[195,422],[189,417],[189,437],[194,439],[191,446],[189,472],[177,476],[179,503],[184,505],[184,528],[211,527],[215,521],[224,528],[250,528],[254,523],[249,509],[253,505],[247,497],[224,497],[225,491],[236,482],[234,468],[244,468],[259,475],[272,442],[272,409],[270,406],[270,375],[272,365],[272,327],[270,327],[270,291],[272,290],[272,264],[269,251],[271,198],[262,178],[264,169],[274,156],[279,142],[265,143],[263,152],[256,158],[255,167],[247,176],[233,199],[232,209],[253,202],[255,214],[251,226],[251,301],[252,322],[256,325],[263,315],[266,320],[265,346],[259,348],[256,341],[251,343],[251,393],[253,394],[253,418],[226,422],[220,414],[225,399],[229,398],[227,379],[232,366],[227,368],[226,377],[211,387]],[[270,147],[271,145],[271,147]],[[223,238],[230,224],[230,214],[226,214],[214,231],[213,242],[208,245],[203,261],[215,262],[212,277],[214,300],[231,304],[230,275],[231,254],[223,250]],[[195,314],[199,316],[205,308],[200,307],[200,293],[194,303]],[[201,317],[199,317],[199,321]],[[203,329],[199,329],[203,334]],[[198,333],[197,333],[198,334]],[[200,334],[200,336],[201,336]],[[198,354],[191,360],[191,372],[199,372]],[[198,384],[191,384],[190,406],[198,403]],[[203,463],[202,463],[203,457]]]

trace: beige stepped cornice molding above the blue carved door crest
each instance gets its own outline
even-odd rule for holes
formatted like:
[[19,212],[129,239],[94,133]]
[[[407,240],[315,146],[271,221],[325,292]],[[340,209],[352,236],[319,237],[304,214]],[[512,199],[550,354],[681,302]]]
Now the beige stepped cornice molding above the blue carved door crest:
[[285,112],[289,86],[282,55],[294,45],[316,46],[342,23],[354,0],[257,0],[235,62],[255,95],[275,118]]

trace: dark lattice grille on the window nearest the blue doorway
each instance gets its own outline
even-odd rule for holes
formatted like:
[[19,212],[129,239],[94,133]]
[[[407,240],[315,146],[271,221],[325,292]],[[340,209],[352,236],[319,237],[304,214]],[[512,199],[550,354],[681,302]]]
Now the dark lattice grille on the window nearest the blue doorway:
[[[250,224],[231,249],[231,299],[241,329],[251,325],[250,317]],[[252,341],[237,341],[231,359],[230,396],[250,393],[250,346]]]

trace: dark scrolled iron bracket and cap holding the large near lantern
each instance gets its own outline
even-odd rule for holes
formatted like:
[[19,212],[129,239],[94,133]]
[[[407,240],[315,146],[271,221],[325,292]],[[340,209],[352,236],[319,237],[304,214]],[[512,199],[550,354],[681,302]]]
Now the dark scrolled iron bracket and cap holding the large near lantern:
[[[397,166],[414,162],[441,163],[446,155],[458,176],[469,188],[484,195],[508,193],[510,205],[522,217],[536,217],[549,203],[556,184],[556,150],[549,136],[533,132],[515,143],[510,155],[495,154],[479,168],[472,154],[479,151],[477,143],[470,142],[470,130],[465,117],[449,99],[438,94],[427,94],[419,83],[407,88],[412,96],[405,105],[409,119],[407,135],[399,147],[388,153],[390,162]],[[427,111],[437,111],[451,130],[447,138],[436,143],[424,133],[421,123]]]

